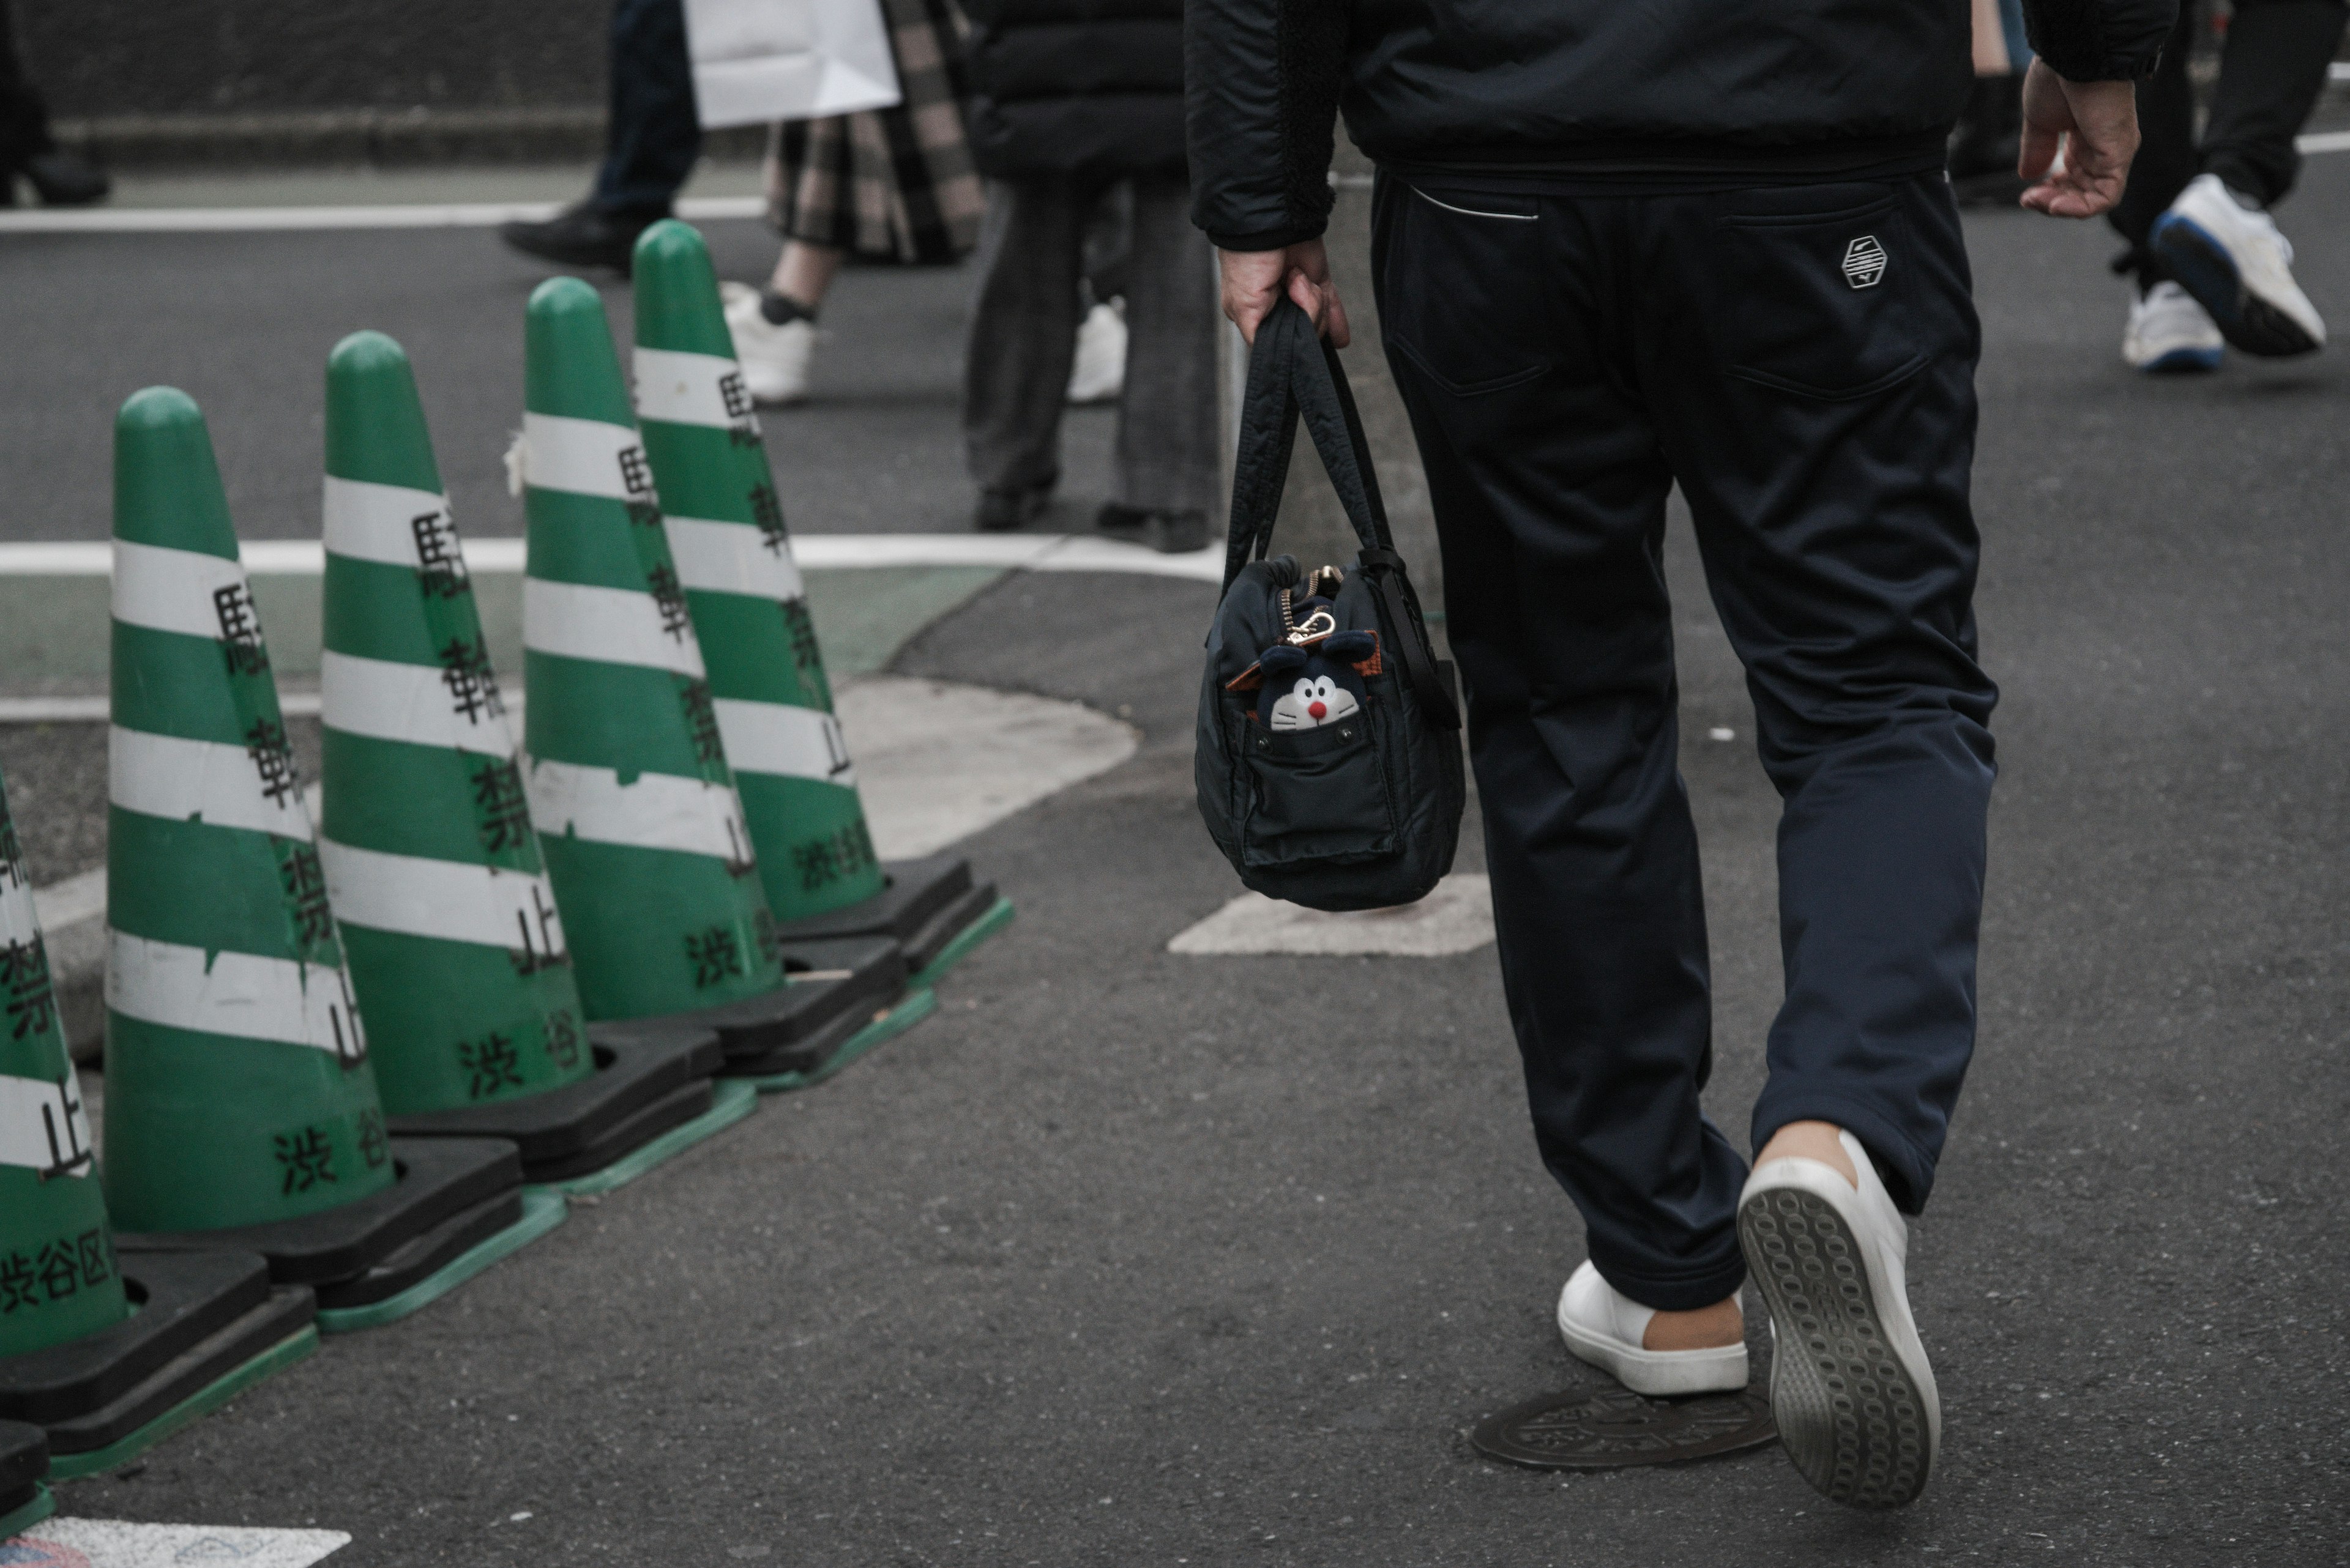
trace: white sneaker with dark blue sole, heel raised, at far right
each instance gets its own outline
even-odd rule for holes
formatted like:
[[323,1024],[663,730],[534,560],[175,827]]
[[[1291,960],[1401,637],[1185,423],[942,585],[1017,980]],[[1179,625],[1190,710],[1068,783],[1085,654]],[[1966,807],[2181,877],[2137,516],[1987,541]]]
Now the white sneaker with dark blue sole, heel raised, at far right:
[[2218,174],[2197,174],[2146,240],[2230,343],[2282,360],[2324,348],[2326,322],[2294,282],[2294,242]]

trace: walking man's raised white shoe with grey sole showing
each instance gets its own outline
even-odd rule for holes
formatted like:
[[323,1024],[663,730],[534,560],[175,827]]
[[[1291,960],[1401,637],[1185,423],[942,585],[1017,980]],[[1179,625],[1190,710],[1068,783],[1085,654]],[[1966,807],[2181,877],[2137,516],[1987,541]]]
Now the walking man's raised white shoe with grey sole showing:
[[1770,1305],[1779,1443],[1831,1502],[1913,1502],[1941,1448],[1941,1396],[1908,1309],[1908,1227],[1868,1150],[1859,1190],[1817,1159],[1772,1159],[1739,1194],[1739,1246]]

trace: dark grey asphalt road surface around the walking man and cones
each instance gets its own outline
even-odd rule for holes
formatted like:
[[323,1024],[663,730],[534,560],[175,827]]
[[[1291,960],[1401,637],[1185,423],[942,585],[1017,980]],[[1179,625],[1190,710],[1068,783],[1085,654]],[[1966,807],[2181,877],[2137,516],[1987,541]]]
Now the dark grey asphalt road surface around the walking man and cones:
[[[2284,219],[2350,324],[2350,158],[2312,160]],[[444,428],[505,418],[510,336],[482,334],[529,280],[479,240],[0,247],[5,527],[101,531],[80,447],[103,425],[59,409],[139,381],[212,367],[216,428],[315,442],[315,395],[282,388],[357,324],[336,277],[397,299],[364,320],[409,341]],[[966,844],[1020,919],[942,1016],[66,1509],[343,1528],[338,1568],[2350,1561],[2350,350],[2141,381],[2101,228],[1990,214],[1969,240],[2002,778],[1981,1051],[1911,1251],[1946,1410],[1918,1507],[1838,1512],[1767,1450],[1570,1479],[1469,1450],[1480,1415],[1600,1385],[1549,1321],[1582,1241],[1492,952],[1168,954],[1236,891],[1189,799],[1210,590],[1015,576],[898,668],[1079,698],[1144,745]],[[862,390],[771,421],[808,451],[804,517],[956,512],[956,299],[952,275],[844,280]],[[308,484],[240,442],[233,484]],[[891,473],[914,498],[860,512],[846,491]],[[1741,1131],[1779,997],[1777,804],[1678,527],[1668,569],[1708,1098]],[[42,741],[7,745],[14,769]]]

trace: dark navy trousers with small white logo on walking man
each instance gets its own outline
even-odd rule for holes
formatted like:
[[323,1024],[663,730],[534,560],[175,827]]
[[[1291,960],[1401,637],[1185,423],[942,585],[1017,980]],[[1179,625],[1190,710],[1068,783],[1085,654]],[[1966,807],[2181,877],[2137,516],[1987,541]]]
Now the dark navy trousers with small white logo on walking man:
[[1678,769],[1678,482],[1784,799],[1786,1004],[1760,1147],[1824,1119],[1915,1211],[1974,1048],[1990,708],[1974,658],[1979,329],[1941,174],[1593,195],[1382,176],[1372,277],[1535,1140],[1591,1260],[1661,1309],[1744,1279],[1699,1114],[1706,912]]

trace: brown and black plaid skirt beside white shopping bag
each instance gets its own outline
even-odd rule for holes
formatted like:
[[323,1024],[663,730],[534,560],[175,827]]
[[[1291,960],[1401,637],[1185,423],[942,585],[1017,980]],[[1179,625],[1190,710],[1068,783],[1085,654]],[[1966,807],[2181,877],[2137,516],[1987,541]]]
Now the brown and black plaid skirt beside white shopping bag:
[[905,99],[787,120],[766,143],[766,221],[785,240],[877,261],[959,261],[985,195],[971,167],[964,19],[954,0],[881,0]]

